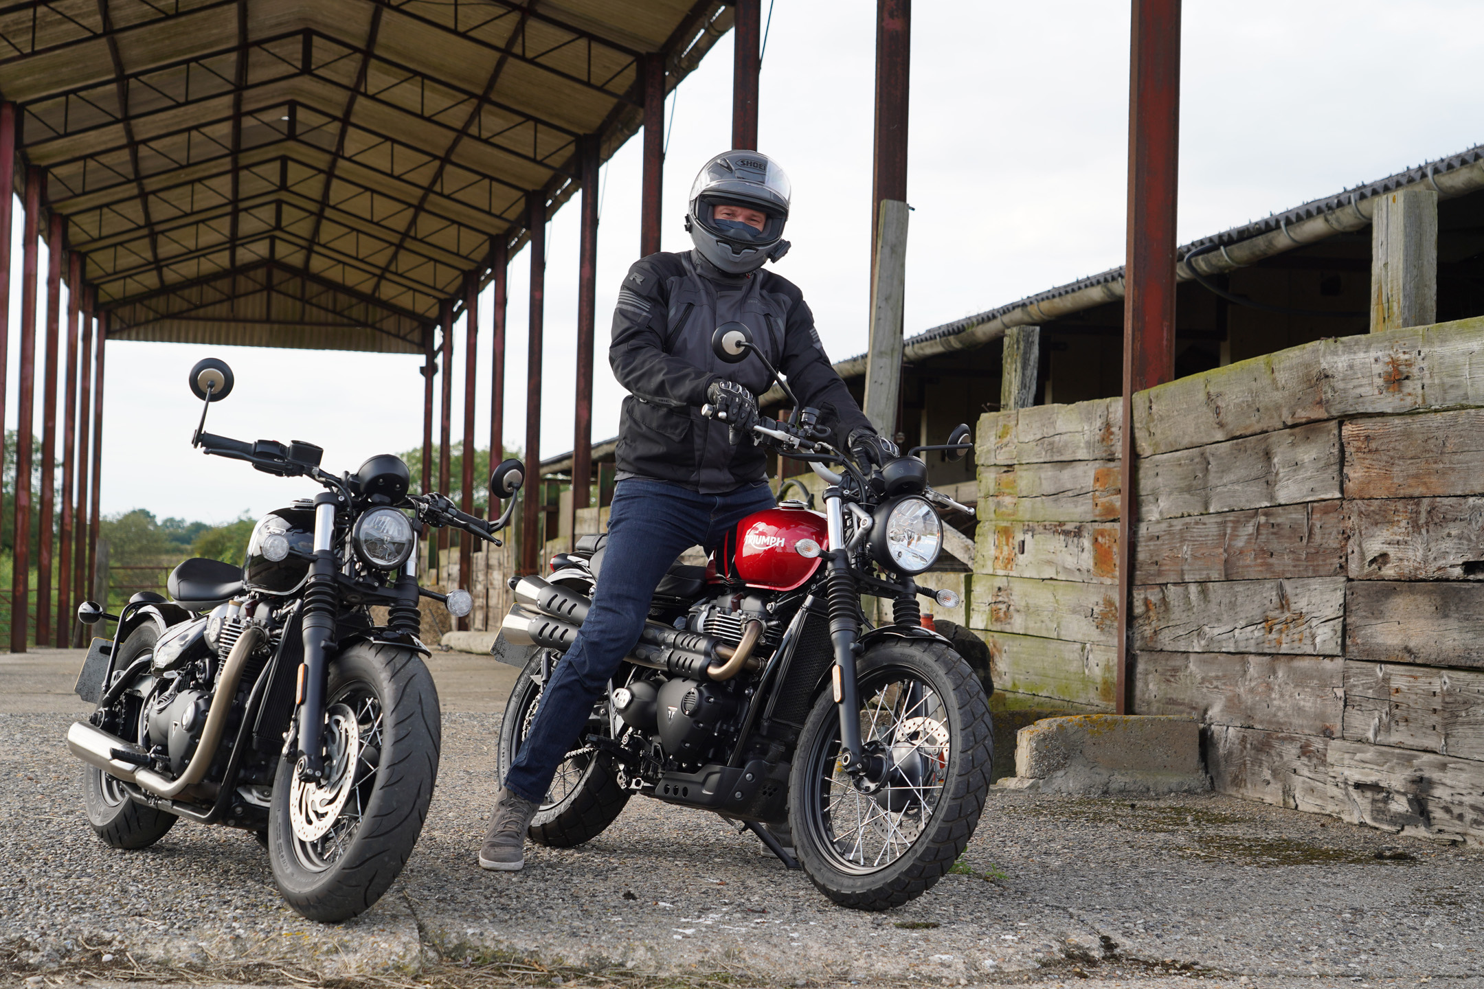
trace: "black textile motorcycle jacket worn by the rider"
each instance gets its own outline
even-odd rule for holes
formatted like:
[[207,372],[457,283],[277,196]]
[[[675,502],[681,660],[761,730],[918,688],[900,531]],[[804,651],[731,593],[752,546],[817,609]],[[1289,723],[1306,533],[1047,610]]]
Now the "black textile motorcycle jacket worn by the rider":
[[758,360],[727,365],[711,353],[711,335],[736,320],[788,378],[821,424],[846,446],[871,429],[815,332],[803,292],[785,277],[757,270],[726,274],[695,251],[651,254],[629,268],[613,310],[608,363],[629,390],[619,423],[619,479],[650,477],[700,494],[723,494],[764,479],[766,458],[749,442],[727,443],[727,424],[700,417],[706,388],[727,378],[761,396],[767,371]]

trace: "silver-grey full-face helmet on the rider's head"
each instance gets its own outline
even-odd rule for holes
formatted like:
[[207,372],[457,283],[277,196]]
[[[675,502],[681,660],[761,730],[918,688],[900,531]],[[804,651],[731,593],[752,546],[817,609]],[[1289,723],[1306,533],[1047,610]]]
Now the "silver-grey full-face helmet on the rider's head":
[[[788,254],[784,225],[792,187],[778,162],[757,151],[726,151],[706,162],[690,187],[686,233],[696,252],[727,274],[746,274]],[[743,206],[767,216],[761,230],[715,219],[717,206]]]

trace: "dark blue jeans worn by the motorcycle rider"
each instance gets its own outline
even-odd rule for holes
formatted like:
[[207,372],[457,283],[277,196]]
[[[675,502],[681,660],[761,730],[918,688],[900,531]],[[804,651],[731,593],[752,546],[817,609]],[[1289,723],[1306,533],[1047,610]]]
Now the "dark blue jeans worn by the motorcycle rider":
[[766,483],[703,495],[659,480],[619,482],[592,608],[552,670],[531,731],[505,777],[506,789],[537,804],[546,799],[556,767],[586,731],[592,706],[640,641],[665,571],[692,546],[709,553],[738,522],[773,504]]

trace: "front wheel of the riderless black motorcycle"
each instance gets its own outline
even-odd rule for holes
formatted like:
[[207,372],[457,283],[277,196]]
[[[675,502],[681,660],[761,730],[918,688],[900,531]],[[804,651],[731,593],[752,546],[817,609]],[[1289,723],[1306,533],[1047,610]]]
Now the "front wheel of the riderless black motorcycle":
[[325,780],[280,761],[269,860],[283,899],[313,921],[375,903],[407,864],[438,777],[441,715],[416,652],[353,645],[329,667]]

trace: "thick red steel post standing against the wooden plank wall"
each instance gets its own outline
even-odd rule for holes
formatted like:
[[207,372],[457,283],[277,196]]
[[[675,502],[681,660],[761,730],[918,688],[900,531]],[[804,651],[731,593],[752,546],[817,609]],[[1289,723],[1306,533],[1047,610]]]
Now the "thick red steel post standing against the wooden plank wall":
[[1180,151],[1180,0],[1134,0],[1123,267],[1123,429],[1119,466],[1119,638],[1114,707],[1131,713],[1134,393],[1175,375],[1175,196]]

